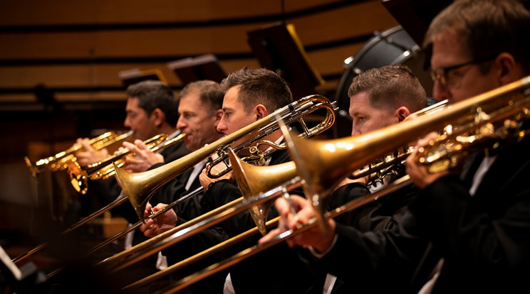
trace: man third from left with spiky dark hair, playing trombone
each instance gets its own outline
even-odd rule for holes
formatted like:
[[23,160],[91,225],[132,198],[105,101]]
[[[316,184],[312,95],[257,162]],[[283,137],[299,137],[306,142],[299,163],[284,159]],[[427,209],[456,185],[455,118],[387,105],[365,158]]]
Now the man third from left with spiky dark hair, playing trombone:
[[[232,134],[244,126],[263,119],[274,110],[285,107],[287,104],[293,102],[291,91],[288,85],[286,85],[286,82],[276,73],[263,68],[243,68],[232,72],[222,81],[221,85],[226,90],[226,93],[222,106],[223,114],[217,130],[225,135]],[[239,143],[244,142],[246,139],[241,138],[234,141],[232,146],[238,146]],[[261,139],[261,141],[264,140],[281,143],[281,132],[274,131],[272,134]],[[259,149],[264,151],[268,147],[268,145],[259,146]],[[246,155],[244,152],[247,152],[247,150],[239,153],[239,156]],[[286,151],[275,151],[272,153],[271,158],[266,158],[265,164],[275,165],[287,160],[289,160],[289,154]],[[224,168],[226,168],[226,165],[219,163],[214,165],[211,173],[215,175],[219,170]],[[241,197],[241,191],[237,183],[234,183],[234,180],[232,180],[231,172],[212,179],[209,178],[207,171],[203,170],[200,175],[200,181],[202,186],[207,189],[201,200],[201,207],[205,212]],[[175,212],[170,211],[169,214],[173,216],[167,216],[164,219],[177,219]],[[269,213],[269,219],[276,215],[276,212],[272,209]],[[178,219],[180,219],[180,216],[178,216]],[[155,223],[148,220],[141,229],[148,236],[155,236],[174,226],[174,221],[168,225],[167,223]],[[246,232],[248,229],[256,227],[256,223],[249,212],[245,211],[237,214],[236,217],[222,222],[219,226],[222,227],[228,236],[236,236],[241,232]],[[152,232],[156,232],[156,234],[152,234]],[[255,244],[257,241],[257,237],[250,239],[246,240],[245,244]],[[243,248],[245,245],[239,244],[239,246]],[[169,250],[172,250],[172,247],[167,249],[167,251]],[[279,263],[286,264],[279,267]],[[284,279],[281,279],[281,281],[276,276],[279,271],[284,271],[285,273],[281,275],[284,276]],[[306,287],[309,287],[313,283],[310,276],[311,273],[306,268],[306,265],[295,256],[291,256],[288,248],[279,248],[274,252],[271,251],[269,254],[264,254],[260,258],[255,258],[249,261],[249,263],[244,263],[234,268],[234,271],[230,272],[229,279],[227,279],[226,287],[232,289],[233,282],[233,288],[237,293],[286,293],[289,292],[289,289],[293,289],[294,285],[290,283],[293,274],[299,277],[297,279],[298,285],[304,283]],[[261,283],[263,279],[268,281],[265,285]],[[269,283],[273,280],[276,283]]]

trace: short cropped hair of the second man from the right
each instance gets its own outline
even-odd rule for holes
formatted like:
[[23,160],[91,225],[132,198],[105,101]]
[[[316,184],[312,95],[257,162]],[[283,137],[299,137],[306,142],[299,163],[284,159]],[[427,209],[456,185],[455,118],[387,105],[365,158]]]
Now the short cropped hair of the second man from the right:
[[385,65],[372,68],[353,78],[348,97],[367,92],[373,107],[412,112],[427,107],[427,94],[412,70],[406,65]]

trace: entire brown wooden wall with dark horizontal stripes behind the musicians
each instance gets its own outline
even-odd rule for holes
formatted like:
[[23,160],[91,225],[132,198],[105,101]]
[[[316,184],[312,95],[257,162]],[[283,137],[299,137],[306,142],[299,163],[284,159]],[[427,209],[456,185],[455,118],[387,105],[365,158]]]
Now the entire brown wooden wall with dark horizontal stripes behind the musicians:
[[[8,114],[3,121],[27,118],[38,126],[49,119],[42,113],[49,107],[34,94],[38,85],[50,89],[55,102],[64,104],[58,108],[67,111],[62,115],[75,121],[76,116],[123,114],[121,70],[162,70],[178,91],[182,82],[167,62],[213,53],[227,73],[259,67],[247,32],[281,20],[296,27],[326,81],[315,91],[330,98],[345,58],[375,31],[398,24],[381,0],[1,1],[0,111]],[[96,121],[74,125],[79,134],[88,134]],[[19,157],[25,148],[14,150]]]

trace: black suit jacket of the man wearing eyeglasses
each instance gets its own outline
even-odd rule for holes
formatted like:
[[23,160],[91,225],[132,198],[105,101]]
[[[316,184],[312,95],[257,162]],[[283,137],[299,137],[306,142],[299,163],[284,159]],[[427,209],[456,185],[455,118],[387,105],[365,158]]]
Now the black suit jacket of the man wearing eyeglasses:
[[363,234],[338,224],[321,266],[365,288],[398,275],[409,281],[402,293],[417,293],[444,258],[432,293],[528,292],[529,148],[529,138],[502,148],[473,197],[457,175],[425,187],[399,230]]

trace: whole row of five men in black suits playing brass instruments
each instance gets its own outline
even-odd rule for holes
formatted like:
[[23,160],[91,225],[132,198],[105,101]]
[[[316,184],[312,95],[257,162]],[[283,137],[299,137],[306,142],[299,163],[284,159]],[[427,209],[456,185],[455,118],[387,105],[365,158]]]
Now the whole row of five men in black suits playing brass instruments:
[[[430,56],[427,61],[435,82],[433,97],[454,104],[528,75],[529,24],[530,14],[518,1],[455,1],[432,21],[425,36],[424,48]],[[353,79],[348,96],[352,136],[397,124],[427,107],[425,89],[405,65],[361,73]],[[160,82],[140,82],[128,88],[125,126],[135,131],[137,140],[123,143],[135,153],[125,160],[125,170],[157,168],[197,151],[293,102],[293,97],[275,72],[243,68],[230,73],[220,84],[192,82],[182,89],[177,101],[176,106],[172,90]],[[142,143],[156,134],[177,136],[180,132],[186,134],[183,143],[160,153]],[[406,164],[396,165],[395,173],[380,182],[346,177],[326,198],[330,201],[325,207],[333,209],[373,193],[402,175],[410,176],[410,185],[327,219],[324,226],[247,258],[179,293],[491,293],[527,289],[528,140],[469,153],[460,158],[459,168],[430,173],[414,158],[418,148],[435,136],[415,141],[415,151]],[[281,143],[284,136],[275,131],[264,139]],[[108,156],[105,151],[95,151],[87,141],[78,140],[84,147],[76,153],[78,163],[88,165]],[[287,151],[275,151],[266,165],[289,160]],[[241,197],[232,173],[209,178],[205,164],[206,160],[189,167],[157,190],[145,216],[204,187],[199,195],[160,217],[147,218],[134,232],[130,246]],[[213,173],[224,168],[221,165],[215,165]],[[90,190],[108,202],[119,197],[121,191],[115,179],[94,181]],[[151,293],[315,217],[301,190],[289,194],[291,203],[281,198],[270,209],[268,219],[281,218],[278,227],[266,236],[250,237],[237,248],[204,258],[187,271],[177,271],[137,291]],[[122,213],[130,222],[137,222],[132,208]],[[256,224],[251,214],[242,212],[125,268],[113,283],[127,285],[253,227]]]

